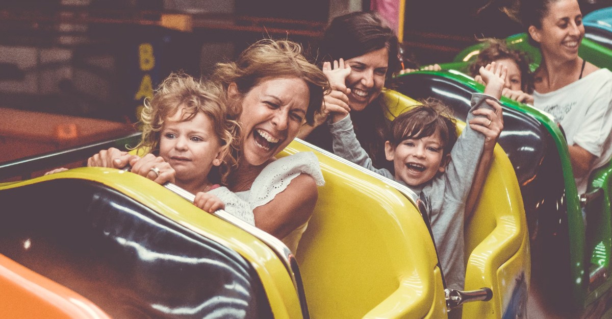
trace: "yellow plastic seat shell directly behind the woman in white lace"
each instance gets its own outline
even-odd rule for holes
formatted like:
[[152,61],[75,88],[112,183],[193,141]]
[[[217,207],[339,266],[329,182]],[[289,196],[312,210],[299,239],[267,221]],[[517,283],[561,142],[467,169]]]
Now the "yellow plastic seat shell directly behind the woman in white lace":
[[[283,155],[310,148],[294,141]],[[446,304],[427,227],[400,192],[315,151],[326,180],[300,241],[312,318],[441,318]]]

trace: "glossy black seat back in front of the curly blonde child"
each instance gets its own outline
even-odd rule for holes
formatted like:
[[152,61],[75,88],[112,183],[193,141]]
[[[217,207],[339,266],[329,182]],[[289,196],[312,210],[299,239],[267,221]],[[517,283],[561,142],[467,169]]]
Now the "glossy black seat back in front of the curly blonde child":
[[271,318],[252,265],[110,187],[0,191],[0,253],[114,318]]

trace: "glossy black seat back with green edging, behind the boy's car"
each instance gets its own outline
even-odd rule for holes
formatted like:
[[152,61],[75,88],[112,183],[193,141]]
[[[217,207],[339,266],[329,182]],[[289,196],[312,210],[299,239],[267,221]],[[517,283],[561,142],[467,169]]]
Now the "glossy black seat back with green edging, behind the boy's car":
[[[474,89],[435,73],[408,73],[390,87],[420,100],[434,97],[465,121]],[[498,144],[512,163],[529,227],[532,287],[545,287],[548,301],[573,307],[565,291],[572,282],[565,181],[559,151],[550,132],[528,113],[502,104],[504,130]],[[559,307],[559,306],[557,306]],[[569,309],[568,309],[569,311]]]

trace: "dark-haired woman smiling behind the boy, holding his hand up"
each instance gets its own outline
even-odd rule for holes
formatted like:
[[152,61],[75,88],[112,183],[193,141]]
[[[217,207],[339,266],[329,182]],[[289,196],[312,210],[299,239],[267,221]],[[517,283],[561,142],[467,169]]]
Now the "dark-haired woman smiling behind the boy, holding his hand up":
[[324,98],[326,110],[319,114],[315,126],[304,126],[299,137],[332,151],[332,138],[324,123],[327,114],[345,108],[375,167],[392,169],[384,156],[389,121],[380,93],[387,78],[401,69],[397,54],[397,37],[376,13],[353,12],[335,18],[325,31],[319,56],[327,62],[343,59],[350,73],[345,86],[332,88]]

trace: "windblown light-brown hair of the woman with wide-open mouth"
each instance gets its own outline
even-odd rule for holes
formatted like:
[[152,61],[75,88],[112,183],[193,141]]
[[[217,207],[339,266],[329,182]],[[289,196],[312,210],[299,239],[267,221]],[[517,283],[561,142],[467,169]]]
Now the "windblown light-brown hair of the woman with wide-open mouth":
[[[318,67],[302,55],[302,47],[288,40],[264,39],[242,51],[236,62],[218,63],[212,78],[222,83],[227,91],[231,83],[244,97],[264,78],[297,77],[305,81],[310,92],[306,122],[314,123],[316,112],[321,111],[323,96],[329,92],[329,82]],[[241,99],[242,100],[242,99]],[[230,101],[231,113],[241,111],[241,100]]]

